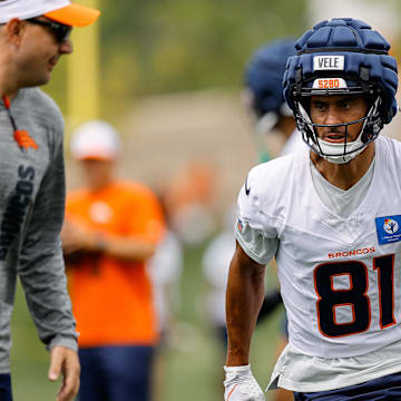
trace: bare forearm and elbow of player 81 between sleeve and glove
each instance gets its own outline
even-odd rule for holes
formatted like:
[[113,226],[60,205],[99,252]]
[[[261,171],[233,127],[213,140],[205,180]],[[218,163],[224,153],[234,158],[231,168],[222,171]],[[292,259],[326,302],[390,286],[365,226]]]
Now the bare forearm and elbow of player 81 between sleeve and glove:
[[253,261],[237,243],[226,293],[227,366],[250,363],[251,338],[264,297],[264,274],[265,266]]

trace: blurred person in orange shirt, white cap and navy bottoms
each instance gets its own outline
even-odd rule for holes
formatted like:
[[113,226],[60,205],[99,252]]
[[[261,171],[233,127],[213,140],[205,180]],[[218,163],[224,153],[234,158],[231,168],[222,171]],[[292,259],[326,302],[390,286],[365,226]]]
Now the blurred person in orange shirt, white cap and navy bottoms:
[[146,264],[164,234],[156,196],[115,176],[119,138],[105,121],[78,127],[71,154],[87,186],[67,196],[62,248],[81,363],[80,401],[149,400],[158,340]]

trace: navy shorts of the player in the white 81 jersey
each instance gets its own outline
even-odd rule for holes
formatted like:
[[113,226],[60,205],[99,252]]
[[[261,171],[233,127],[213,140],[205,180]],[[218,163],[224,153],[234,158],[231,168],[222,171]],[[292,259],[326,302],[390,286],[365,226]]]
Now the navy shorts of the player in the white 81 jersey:
[[400,401],[401,373],[389,374],[339,390],[294,393],[295,401]]

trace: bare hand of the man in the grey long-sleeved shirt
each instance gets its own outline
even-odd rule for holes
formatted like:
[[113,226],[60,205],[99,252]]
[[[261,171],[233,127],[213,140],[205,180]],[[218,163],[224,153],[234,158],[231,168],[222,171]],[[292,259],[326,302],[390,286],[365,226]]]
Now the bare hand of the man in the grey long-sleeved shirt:
[[65,346],[55,346],[50,351],[50,369],[48,378],[56,381],[60,373],[62,383],[57,393],[57,401],[71,401],[78,393],[80,365],[78,354]]

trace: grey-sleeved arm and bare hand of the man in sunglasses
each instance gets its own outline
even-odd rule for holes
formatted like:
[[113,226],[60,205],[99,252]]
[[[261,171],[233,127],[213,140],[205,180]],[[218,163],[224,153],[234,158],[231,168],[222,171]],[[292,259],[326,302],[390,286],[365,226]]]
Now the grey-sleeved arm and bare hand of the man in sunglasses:
[[[59,129],[61,131],[61,125]],[[62,374],[57,401],[70,401],[79,387],[78,335],[67,293],[60,242],[65,208],[61,133],[55,141],[53,154],[22,233],[18,275],[39,338],[50,350],[49,379]]]

